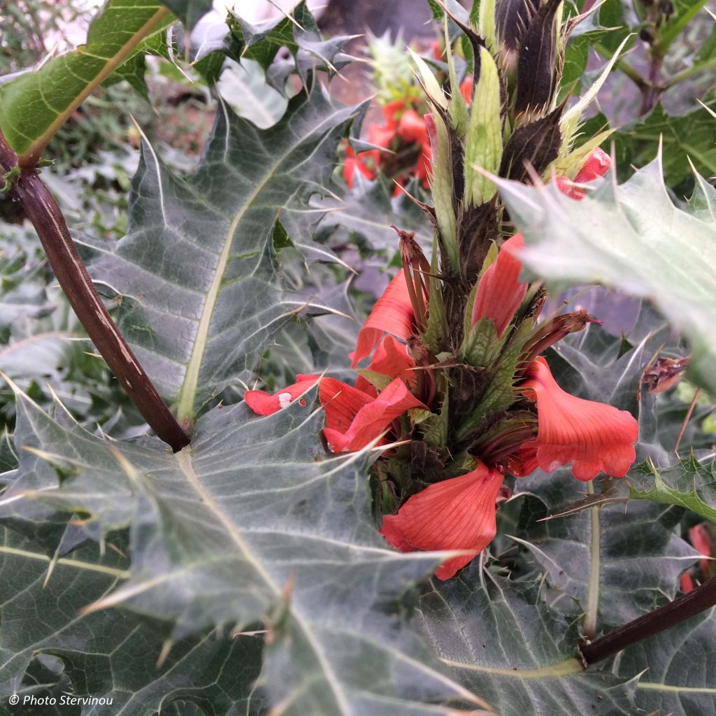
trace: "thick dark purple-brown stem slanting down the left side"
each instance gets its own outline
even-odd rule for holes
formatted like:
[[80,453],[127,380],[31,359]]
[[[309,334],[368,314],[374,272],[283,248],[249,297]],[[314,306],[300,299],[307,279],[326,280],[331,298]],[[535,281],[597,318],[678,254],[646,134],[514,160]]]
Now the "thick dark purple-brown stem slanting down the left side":
[[[6,172],[17,166],[17,157],[1,133],[0,165]],[[189,444],[188,436],[159,397],[132,349],[112,321],[74,248],[62,211],[37,171],[22,170],[14,182],[11,195],[19,200],[25,216],[32,221],[47,253],[49,265],[69,304],[123,390],[161,440],[170,445],[174,452],[184,448]]]

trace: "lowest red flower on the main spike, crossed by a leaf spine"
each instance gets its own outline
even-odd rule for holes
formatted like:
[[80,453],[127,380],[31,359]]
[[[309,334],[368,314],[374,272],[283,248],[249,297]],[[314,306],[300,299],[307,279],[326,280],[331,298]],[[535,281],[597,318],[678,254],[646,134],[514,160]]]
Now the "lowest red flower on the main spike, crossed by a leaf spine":
[[437,579],[450,579],[493,540],[495,501],[503,478],[498,470],[479,463],[467,475],[443,480],[413,495],[397,515],[383,518],[380,532],[402,552],[468,550],[435,571]]

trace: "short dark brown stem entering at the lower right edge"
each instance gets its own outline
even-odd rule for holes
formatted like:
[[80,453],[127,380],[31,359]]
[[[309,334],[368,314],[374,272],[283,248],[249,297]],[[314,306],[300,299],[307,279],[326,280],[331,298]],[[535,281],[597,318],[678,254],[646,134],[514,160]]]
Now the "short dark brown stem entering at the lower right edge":
[[629,621],[629,624],[614,629],[613,632],[596,639],[591,644],[579,647],[582,662],[585,667],[601,662],[602,659],[621,652],[621,649],[675,627],[712,606],[716,606],[716,577],[707,579],[689,594],[679,596],[669,604],[660,606],[659,609],[654,609],[649,614],[640,616],[639,619]]

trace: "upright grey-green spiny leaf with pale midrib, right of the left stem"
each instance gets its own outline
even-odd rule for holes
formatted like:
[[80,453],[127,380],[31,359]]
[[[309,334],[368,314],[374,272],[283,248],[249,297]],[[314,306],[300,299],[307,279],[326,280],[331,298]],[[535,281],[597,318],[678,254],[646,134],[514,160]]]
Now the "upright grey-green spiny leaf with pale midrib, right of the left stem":
[[114,245],[83,239],[96,254],[93,279],[121,296],[120,330],[180,418],[246,384],[274,332],[304,306],[281,294],[274,224],[321,192],[353,115],[317,81],[267,130],[221,105],[193,175],[173,175],[145,142],[129,233]]

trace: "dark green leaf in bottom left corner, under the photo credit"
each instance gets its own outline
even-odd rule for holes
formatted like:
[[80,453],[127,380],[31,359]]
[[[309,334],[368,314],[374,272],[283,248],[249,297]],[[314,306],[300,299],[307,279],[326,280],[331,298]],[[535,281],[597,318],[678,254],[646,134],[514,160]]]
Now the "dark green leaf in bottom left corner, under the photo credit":
[[[150,628],[119,611],[81,614],[127,580],[125,536],[108,536],[104,553],[86,543],[55,557],[39,537],[46,525],[36,527],[26,535],[0,531],[0,699],[47,695],[47,677],[34,683],[32,672],[38,662],[55,659],[61,692],[101,699],[94,704],[98,712],[144,716],[183,702],[202,714],[248,713],[259,639],[225,629],[163,642],[159,624]],[[28,619],[29,610],[42,619]]]

